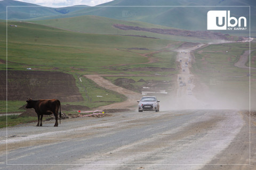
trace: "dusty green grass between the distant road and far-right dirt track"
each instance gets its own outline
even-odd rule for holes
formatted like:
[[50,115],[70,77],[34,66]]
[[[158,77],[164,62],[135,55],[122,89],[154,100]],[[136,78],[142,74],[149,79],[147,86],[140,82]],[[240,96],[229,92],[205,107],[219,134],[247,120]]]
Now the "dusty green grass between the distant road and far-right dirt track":
[[243,76],[247,70],[239,69],[234,64],[249,49],[249,43],[229,43],[209,45],[195,52],[196,63],[193,71],[198,75]]

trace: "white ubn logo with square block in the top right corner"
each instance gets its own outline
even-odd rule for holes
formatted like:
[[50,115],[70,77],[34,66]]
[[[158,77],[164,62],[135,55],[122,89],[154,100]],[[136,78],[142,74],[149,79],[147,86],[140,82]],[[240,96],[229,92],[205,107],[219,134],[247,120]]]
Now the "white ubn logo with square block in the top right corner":
[[[231,23],[230,21],[233,20]],[[241,16],[238,20],[230,17],[230,11],[208,11],[207,12],[207,30],[227,30],[227,28],[241,27],[241,20],[244,21],[246,27],[246,18]],[[234,23],[235,22],[235,23]]]

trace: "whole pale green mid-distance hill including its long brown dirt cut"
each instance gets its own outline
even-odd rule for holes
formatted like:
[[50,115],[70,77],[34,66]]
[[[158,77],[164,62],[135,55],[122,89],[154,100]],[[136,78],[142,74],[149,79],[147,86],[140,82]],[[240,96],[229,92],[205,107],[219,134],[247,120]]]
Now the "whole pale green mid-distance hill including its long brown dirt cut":
[[84,15],[54,20],[30,21],[37,24],[82,33],[140,36],[178,41],[208,43],[214,40],[238,40],[237,37],[207,31],[180,30],[141,21],[123,21],[101,16]]

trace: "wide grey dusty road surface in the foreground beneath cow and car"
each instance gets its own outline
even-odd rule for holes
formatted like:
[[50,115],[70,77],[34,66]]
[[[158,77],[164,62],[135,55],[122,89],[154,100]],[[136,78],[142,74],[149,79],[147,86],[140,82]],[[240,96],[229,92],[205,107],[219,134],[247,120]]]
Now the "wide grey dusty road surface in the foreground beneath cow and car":
[[248,166],[226,164],[250,163],[248,120],[236,111],[130,111],[53,125],[8,128],[9,165],[1,131],[0,169],[240,169]]

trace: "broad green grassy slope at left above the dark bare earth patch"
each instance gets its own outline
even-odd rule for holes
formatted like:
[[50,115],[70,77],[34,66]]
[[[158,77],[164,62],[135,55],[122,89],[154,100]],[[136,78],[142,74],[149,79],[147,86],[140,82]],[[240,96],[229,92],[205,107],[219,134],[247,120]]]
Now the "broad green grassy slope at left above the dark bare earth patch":
[[[14,70],[58,67],[58,71],[64,72],[75,68],[82,72],[106,73],[103,67],[147,62],[145,57],[129,52],[127,48],[159,50],[174,43],[171,40],[71,32],[23,22],[10,24],[18,25],[8,27],[8,61]],[[0,30],[4,31],[5,24],[0,25]],[[5,39],[5,35],[1,36]],[[5,48],[4,41],[1,48]],[[4,50],[1,53],[1,59],[5,60]],[[5,70],[5,66],[1,69]]]

